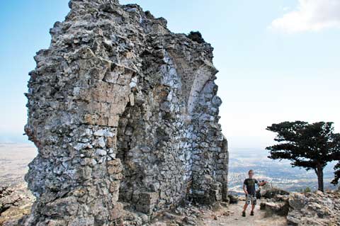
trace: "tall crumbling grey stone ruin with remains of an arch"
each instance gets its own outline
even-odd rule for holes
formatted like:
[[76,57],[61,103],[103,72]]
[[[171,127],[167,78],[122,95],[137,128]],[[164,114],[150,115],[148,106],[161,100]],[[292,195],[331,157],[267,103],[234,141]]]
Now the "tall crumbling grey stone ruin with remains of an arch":
[[184,200],[226,200],[211,45],[136,4],[69,8],[29,73],[37,199],[21,225],[141,225]]

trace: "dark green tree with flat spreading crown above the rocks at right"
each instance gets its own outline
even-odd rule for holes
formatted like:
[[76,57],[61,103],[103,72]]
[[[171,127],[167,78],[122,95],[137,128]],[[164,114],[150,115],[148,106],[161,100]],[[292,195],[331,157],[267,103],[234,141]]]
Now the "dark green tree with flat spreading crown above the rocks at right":
[[289,159],[293,167],[314,169],[318,189],[324,191],[324,166],[334,160],[340,162],[340,134],[334,133],[333,123],[283,122],[268,126],[266,130],[276,132],[274,140],[278,142],[266,147],[271,154],[268,158]]

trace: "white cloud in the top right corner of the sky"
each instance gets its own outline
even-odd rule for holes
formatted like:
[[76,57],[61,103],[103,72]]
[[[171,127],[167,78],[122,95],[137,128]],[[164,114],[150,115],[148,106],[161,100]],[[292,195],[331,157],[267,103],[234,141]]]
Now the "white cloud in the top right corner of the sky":
[[270,28],[285,33],[340,28],[340,0],[299,0],[295,11],[275,19]]

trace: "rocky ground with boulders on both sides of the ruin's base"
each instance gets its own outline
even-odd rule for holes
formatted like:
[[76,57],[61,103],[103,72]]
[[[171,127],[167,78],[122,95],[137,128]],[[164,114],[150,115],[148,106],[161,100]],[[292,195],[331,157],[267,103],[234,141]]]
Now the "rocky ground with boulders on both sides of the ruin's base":
[[[20,194],[20,190],[2,190],[2,194],[9,194],[7,198],[1,197],[1,209],[4,210],[4,200],[10,200],[10,208],[1,214],[0,225],[4,220],[11,224],[30,212],[33,202],[29,196]],[[22,191],[22,190],[21,190]],[[10,197],[10,198],[8,198]],[[242,217],[244,198],[239,197],[234,204],[220,203],[215,206],[194,206],[187,203],[174,210],[160,213],[149,226],[182,226],[182,225],[328,225],[339,226],[340,219],[340,193],[332,191],[328,193],[291,193],[290,195],[276,195],[273,198],[261,198],[256,205],[255,215],[251,216],[250,208],[246,211],[246,217]],[[289,212],[288,212],[289,210]],[[145,224],[147,225],[147,224]]]

